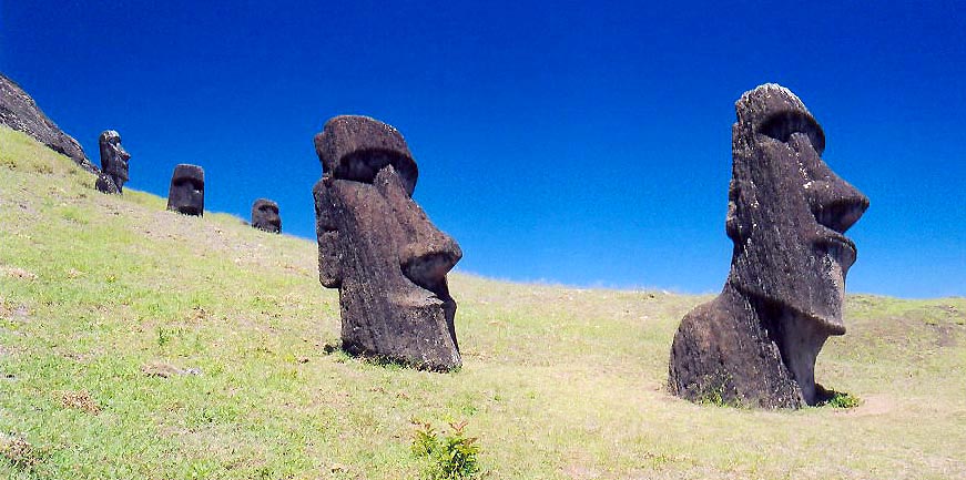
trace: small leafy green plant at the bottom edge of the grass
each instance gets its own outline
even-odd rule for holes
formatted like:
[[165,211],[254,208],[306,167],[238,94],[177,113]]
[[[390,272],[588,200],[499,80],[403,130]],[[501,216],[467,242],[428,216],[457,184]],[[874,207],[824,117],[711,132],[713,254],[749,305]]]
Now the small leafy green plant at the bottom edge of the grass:
[[430,480],[471,479],[479,473],[476,438],[464,432],[466,421],[449,423],[453,431],[440,436],[430,423],[416,422],[413,453],[429,460],[425,478]]

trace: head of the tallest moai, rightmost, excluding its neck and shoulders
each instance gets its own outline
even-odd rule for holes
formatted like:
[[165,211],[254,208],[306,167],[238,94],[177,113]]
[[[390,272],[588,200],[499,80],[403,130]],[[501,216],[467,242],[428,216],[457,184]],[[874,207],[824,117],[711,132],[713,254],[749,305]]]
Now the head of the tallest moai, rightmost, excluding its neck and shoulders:
[[794,93],[761,85],[735,110],[729,282],[827,335],[842,335],[845,275],[855,262],[855,244],[843,234],[868,198],[822,161],[825,134]]

